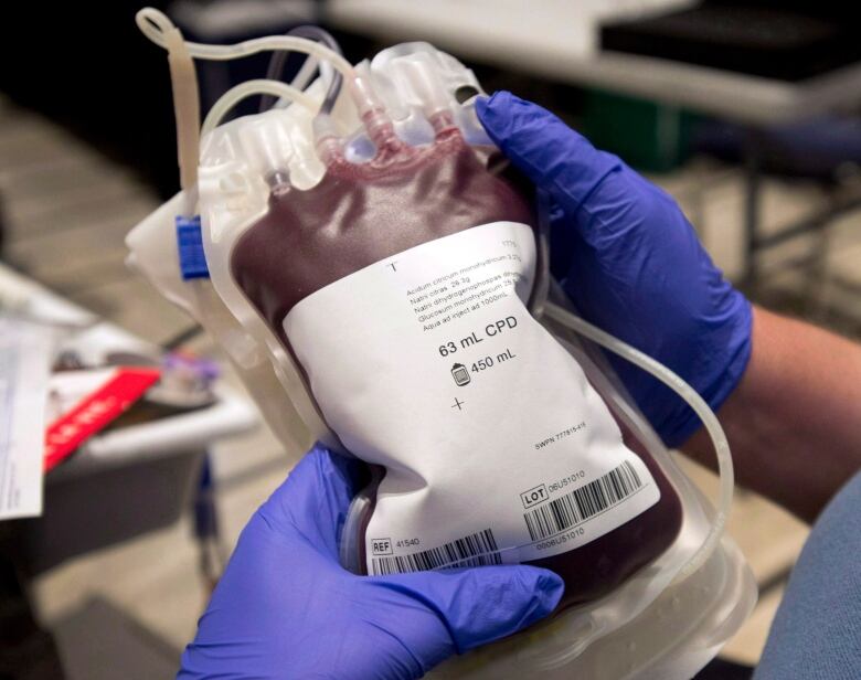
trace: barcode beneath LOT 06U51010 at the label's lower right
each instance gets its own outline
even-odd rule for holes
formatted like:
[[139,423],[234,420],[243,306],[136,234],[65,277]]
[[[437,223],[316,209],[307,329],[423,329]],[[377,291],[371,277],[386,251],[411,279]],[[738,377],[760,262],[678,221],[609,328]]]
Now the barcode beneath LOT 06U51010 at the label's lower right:
[[533,541],[546,539],[618,503],[642,487],[627,460],[603,477],[523,514]]

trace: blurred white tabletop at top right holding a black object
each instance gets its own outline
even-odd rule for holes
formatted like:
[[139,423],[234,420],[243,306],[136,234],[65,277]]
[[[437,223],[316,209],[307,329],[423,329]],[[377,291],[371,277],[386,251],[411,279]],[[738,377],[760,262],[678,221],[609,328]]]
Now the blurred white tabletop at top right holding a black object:
[[424,40],[476,62],[599,87],[748,125],[807,119],[859,100],[861,63],[787,83],[683,62],[602,52],[609,18],[692,4],[680,0],[330,0],[327,21],[386,43]]

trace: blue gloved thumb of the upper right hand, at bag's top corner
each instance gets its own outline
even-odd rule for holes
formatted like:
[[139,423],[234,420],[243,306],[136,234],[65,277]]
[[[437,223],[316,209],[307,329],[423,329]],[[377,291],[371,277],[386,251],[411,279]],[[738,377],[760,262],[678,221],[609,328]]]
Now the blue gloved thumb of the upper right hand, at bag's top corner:
[[510,92],[479,98],[476,113],[506,157],[572,215],[608,174],[624,168],[549,110]]

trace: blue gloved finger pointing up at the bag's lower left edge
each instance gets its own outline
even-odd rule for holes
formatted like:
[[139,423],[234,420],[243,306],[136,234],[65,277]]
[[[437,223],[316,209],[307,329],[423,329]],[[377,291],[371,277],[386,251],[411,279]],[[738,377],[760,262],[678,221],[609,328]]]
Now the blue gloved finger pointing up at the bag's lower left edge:
[[316,444],[258,513],[277,530],[297,531],[319,551],[338,557],[338,536],[350,501],[364,484],[364,468],[353,458]]

